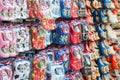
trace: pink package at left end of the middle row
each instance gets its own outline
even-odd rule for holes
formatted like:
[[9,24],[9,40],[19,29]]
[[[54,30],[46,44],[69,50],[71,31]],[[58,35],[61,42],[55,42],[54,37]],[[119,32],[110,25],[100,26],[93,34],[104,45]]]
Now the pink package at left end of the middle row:
[[13,57],[17,53],[15,51],[16,36],[9,28],[3,28],[0,30],[0,57]]

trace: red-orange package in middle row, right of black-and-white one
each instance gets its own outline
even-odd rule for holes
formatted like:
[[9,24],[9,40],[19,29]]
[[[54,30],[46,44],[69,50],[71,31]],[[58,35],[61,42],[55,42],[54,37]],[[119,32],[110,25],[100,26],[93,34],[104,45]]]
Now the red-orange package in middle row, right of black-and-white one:
[[46,30],[43,27],[38,26],[31,27],[32,46],[35,49],[44,49],[46,47],[44,44]]

